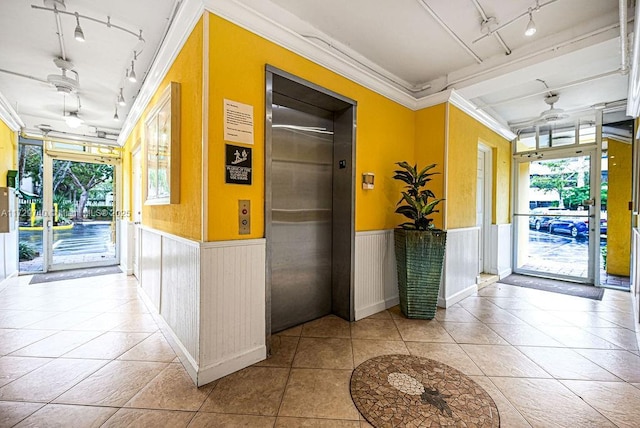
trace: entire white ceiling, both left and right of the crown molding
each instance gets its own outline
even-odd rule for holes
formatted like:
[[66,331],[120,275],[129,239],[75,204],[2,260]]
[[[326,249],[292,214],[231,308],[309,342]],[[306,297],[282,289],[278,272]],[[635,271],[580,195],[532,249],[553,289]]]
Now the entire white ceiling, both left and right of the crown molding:
[[[53,59],[60,57],[61,51],[54,14],[34,9],[31,4],[44,6],[51,1],[0,2],[0,70],[10,72],[0,71],[0,94],[27,128],[46,124],[65,132],[95,135],[98,129],[115,134],[123,124],[113,121],[119,88],[129,101],[126,107],[119,107],[124,119],[142,83],[142,79],[136,84],[124,79],[139,42],[130,34],[81,18],[87,40],[79,43],[73,39],[75,18],[60,16],[66,54],[80,76],[79,115],[87,124],[69,129],[62,120],[62,99],[66,98],[64,104],[69,111],[77,108],[74,97],[62,97],[53,86],[41,81],[60,72]],[[539,0],[539,10],[535,0],[65,3],[67,11],[100,20],[110,16],[112,23],[136,33],[142,29],[144,50],[136,62],[136,73],[142,76],[151,66],[176,8],[193,2],[203,2],[214,12],[233,6],[246,14],[258,14],[312,48],[329,52],[363,76],[405,94],[406,99],[415,100],[416,106],[428,104],[435,94],[455,89],[512,129],[530,124],[549,108],[544,102],[550,92],[547,87],[560,96],[555,107],[569,113],[592,110],[595,105],[627,96],[628,76],[620,72],[619,0]],[[635,1],[628,3],[628,27],[632,29]],[[524,35],[529,8],[533,9],[538,30],[532,37]],[[492,29],[508,24],[497,33],[502,42],[483,32],[483,17],[493,18]],[[357,76],[350,77],[358,80]]]

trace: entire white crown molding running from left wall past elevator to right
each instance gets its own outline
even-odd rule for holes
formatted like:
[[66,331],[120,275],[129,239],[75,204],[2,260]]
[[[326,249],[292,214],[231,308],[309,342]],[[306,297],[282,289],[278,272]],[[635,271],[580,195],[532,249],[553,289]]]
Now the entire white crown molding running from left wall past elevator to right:
[[[173,64],[182,46],[205,11],[220,16],[408,109],[417,111],[437,104],[451,102],[504,138],[508,140],[515,138],[515,134],[507,126],[477,109],[475,105],[453,89],[416,98],[409,93],[408,89],[401,89],[393,85],[381,73],[378,74],[377,71],[362,62],[340,56],[336,51],[331,50],[329,46],[323,47],[313,43],[309,38],[303,37],[300,33],[236,0],[184,0],[140,89],[140,93],[136,97],[131,111],[123,124],[118,137],[118,144],[124,145],[129,138],[151,97],[158,90],[169,67]],[[329,36],[318,33],[317,30],[314,30],[314,33],[321,35],[325,40],[332,40]]]

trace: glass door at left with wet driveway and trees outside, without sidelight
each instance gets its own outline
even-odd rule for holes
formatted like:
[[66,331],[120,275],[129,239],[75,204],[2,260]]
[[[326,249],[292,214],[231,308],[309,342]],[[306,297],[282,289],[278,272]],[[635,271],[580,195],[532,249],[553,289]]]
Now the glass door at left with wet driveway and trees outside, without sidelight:
[[46,270],[117,264],[115,166],[45,158]]

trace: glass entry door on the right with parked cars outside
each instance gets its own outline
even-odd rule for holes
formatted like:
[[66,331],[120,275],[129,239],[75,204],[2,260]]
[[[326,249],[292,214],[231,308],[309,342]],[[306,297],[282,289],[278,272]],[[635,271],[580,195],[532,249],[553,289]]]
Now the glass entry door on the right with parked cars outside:
[[601,216],[595,160],[595,151],[517,160],[516,273],[597,284],[601,232],[595,225]]

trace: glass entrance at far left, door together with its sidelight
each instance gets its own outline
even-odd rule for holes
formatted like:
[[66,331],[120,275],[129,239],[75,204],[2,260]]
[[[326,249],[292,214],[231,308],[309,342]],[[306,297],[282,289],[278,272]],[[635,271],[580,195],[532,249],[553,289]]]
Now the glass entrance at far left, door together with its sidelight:
[[116,265],[117,157],[112,149],[20,139],[20,273]]

